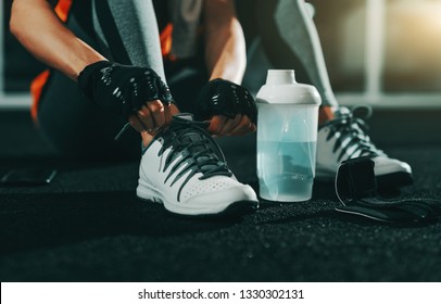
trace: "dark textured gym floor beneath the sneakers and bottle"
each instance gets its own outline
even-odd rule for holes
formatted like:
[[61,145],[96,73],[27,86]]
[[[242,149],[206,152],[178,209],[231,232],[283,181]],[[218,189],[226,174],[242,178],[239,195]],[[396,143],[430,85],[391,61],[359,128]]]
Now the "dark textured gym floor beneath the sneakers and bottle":
[[[0,175],[33,164],[59,172],[47,186],[0,188],[1,281],[441,280],[440,223],[339,214],[332,183],[315,182],[310,202],[190,219],[137,200],[136,162],[59,159],[27,113],[0,113]],[[401,198],[441,198],[441,147],[385,150],[413,166]],[[255,154],[231,151],[232,170],[256,188]]]

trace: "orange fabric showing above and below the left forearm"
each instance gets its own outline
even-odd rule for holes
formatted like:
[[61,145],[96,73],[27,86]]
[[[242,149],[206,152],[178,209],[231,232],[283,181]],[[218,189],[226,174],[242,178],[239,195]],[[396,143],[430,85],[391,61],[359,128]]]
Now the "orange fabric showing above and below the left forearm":
[[[71,10],[73,0],[60,0],[55,5],[55,13],[62,22],[67,21],[68,12]],[[49,69],[43,71],[30,84],[30,94],[33,97],[33,104],[30,107],[30,115],[34,122],[37,122],[37,111],[38,111],[38,103],[40,101],[42,88],[45,87],[46,83],[48,81],[50,72]]]

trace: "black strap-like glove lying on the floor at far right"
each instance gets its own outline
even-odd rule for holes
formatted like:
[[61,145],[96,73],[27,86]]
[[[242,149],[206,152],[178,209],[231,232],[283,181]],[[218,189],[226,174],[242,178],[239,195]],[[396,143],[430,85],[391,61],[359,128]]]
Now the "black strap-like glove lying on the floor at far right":
[[377,194],[375,163],[366,156],[343,162],[336,175],[341,213],[385,223],[423,223],[441,216],[441,203],[430,199],[383,199]]

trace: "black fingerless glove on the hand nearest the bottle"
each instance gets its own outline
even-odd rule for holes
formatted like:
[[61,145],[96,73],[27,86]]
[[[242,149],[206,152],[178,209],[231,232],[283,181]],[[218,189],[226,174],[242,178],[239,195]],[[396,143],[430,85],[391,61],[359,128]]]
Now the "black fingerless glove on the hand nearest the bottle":
[[257,119],[257,107],[248,89],[220,78],[202,87],[194,112],[197,121],[210,119],[213,115],[235,118],[237,114],[247,115],[254,124]]

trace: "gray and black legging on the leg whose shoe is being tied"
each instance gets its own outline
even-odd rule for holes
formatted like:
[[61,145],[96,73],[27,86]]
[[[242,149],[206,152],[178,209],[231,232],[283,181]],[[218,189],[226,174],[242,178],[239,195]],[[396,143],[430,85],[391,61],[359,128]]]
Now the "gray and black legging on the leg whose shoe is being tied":
[[[205,69],[200,62],[190,61],[191,68],[166,66],[164,71],[152,1],[76,1],[74,5],[77,2],[81,7],[73,8],[67,27],[108,59],[153,68],[164,81],[168,79],[180,110],[192,112],[191,101],[207,77]],[[62,155],[139,159],[140,137],[135,130],[114,141],[125,123],[83,97],[76,83],[56,71],[52,73],[40,101],[38,125]]]

